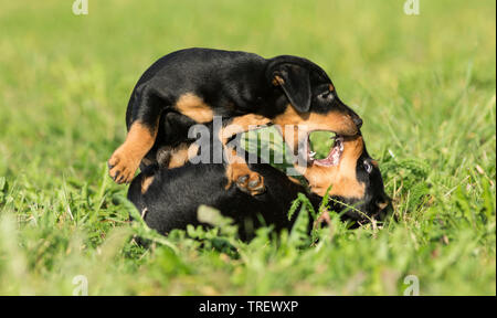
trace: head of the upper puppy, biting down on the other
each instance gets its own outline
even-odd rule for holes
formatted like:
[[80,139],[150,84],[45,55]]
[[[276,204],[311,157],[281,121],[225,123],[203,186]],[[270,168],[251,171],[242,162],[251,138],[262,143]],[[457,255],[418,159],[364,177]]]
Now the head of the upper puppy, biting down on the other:
[[277,56],[269,60],[266,77],[274,87],[278,108],[274,124],[341,136],[358,134],[361,118],[338,98],[331,80],[315,63],[297,56]]

